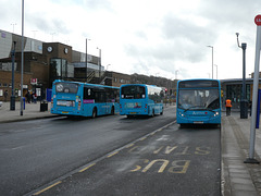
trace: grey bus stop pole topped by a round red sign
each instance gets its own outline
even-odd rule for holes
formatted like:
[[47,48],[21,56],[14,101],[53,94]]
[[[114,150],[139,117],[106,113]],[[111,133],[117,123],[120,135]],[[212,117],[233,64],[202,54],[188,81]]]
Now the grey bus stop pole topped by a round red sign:
[[[252,89],[252,113],[251,113],[251,126],[250,126],[250,140],[249,140],[249,158],[244,161],[245,163],[259,163],[254,159],[254,139],[256,139],[256,123],[257,123],[257,108],[258,108],[258,87],[259,87],[259,63],[260,63],[260,50],[261,50],[261,15],[254,17],[257,27],[256,39],[256,59],[254,59],[254,74],[253,74],[253,89]],[[259,23],[260,22],[260,23]]]

